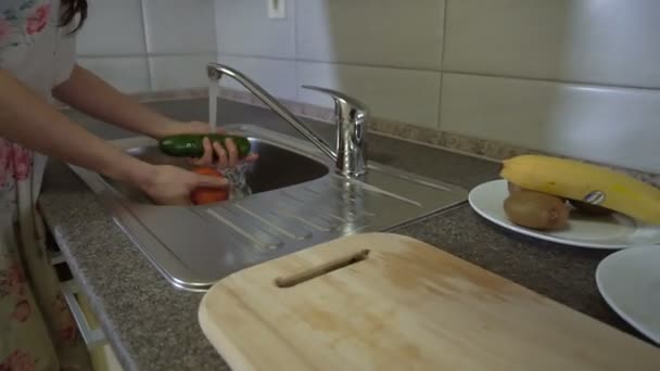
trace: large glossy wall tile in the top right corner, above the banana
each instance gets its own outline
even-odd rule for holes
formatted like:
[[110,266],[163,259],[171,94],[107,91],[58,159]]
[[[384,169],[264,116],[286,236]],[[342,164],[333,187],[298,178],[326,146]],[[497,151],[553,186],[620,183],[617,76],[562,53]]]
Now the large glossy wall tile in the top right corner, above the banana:
[[660,88],[660,1],[448,0],[445,68]]

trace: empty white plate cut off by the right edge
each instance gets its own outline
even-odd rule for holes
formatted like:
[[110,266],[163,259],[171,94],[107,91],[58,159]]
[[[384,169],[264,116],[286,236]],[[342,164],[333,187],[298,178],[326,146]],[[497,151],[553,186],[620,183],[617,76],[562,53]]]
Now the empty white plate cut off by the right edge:
[[660,344],[660,246],[611,254],[598,265],[596,283],[621,318]]

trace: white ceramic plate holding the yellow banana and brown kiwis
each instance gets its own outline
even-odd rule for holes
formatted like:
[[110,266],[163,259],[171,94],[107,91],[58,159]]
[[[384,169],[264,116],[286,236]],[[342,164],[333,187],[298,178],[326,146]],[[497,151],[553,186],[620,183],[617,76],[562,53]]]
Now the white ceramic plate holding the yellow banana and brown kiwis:
[[625,248],[660,243],[660,227],[646,225],[617,213],[605,217],[571,214],[568,228],[561,231],[538,231],[520,227],[509,221],[504,212],[504,201],[508,195],[507,181],[500,179],[475,187],[470,191],[468,200],[482,217],[541,240],[592,248]]

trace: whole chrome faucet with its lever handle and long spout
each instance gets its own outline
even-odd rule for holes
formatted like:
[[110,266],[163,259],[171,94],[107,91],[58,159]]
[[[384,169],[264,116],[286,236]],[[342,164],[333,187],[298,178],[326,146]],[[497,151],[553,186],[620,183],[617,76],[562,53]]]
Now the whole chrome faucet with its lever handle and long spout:
[[357,177],[367,172],[366,133],[368,112],[366,106],[359,101],[339,91],[303,86],[305,89],[325,92],[334,100],[334,114],[338,126],[337,151],[333,151],[325,140],[297,119],[291,111],[245,75],[229,66],[217,63],[210,63],[206,71],[208,78],[213,80],[219,81],[224,75],[228,75],[239,81],[330,157],[335,164],[337,171],[340,174],[347,177]]

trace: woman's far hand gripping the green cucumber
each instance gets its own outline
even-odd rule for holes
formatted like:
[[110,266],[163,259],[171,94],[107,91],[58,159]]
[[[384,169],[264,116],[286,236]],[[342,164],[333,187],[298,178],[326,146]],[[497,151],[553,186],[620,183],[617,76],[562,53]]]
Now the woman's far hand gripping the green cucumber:
[[[211,125],[200,121],[173,121],[166,124],[162,132],[158,135],[160,138],[168,136],[177,136],[183,133],[212,133],[213,129]],[[225,132],[223,129],[216,130],[216,132]],[[224,169],[227,167],[234,167],[239,163],[254,162],[257,158],[256,154],[250,154],[245,158],[239,161],[238,149],[231,139],[227,139],[225,142],[225,150],[223,145],[217,142],[211,142],[208,138],[204,138],[204,155],[200,158],[191,159],[191,163],[195,166],[211,166],[213,165],[214,153],[218,158],[217,167]]]

